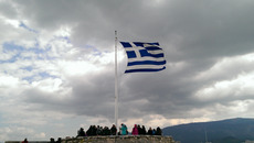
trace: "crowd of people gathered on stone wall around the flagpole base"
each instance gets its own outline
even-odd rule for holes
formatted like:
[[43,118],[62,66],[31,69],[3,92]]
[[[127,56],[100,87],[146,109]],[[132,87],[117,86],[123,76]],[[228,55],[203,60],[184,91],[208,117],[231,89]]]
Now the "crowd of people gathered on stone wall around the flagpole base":
[[91,125],[87,131],[84,131],[81,128],[77,131],[77,136],[95,136],[95,135],[162,135],[161,129],[158,127],[157,129],[151,129],[147,131],[145,125],[135,124],[131,132],[128,132],[128,128],[126,124],[121,123],[119,131],[117,132],[117,128],[115,124],[109,129],[108,127],[99,127],[99,125]]

